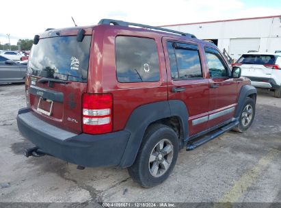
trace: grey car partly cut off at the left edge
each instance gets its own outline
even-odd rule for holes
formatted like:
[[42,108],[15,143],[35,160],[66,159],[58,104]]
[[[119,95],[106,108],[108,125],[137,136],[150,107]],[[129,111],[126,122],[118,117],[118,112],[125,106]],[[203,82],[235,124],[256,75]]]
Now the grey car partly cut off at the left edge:
[[27,63],[19,64],[0,55],[0,83],[25,82]]

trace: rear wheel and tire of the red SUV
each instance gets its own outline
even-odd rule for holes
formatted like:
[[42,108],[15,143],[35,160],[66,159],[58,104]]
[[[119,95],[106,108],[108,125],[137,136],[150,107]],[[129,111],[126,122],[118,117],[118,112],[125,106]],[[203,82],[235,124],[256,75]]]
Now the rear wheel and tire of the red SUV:
[[176,164],[178,149],[178,136],[173,129],[161,124],[152,125],[144,135],[133,166],[128,168],[131,178],[142,187],[162,183]]

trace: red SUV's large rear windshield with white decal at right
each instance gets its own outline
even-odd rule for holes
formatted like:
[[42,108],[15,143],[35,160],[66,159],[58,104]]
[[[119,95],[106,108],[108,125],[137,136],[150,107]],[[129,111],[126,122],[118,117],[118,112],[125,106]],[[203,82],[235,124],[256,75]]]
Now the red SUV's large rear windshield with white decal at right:
[[87,82],[91,36],[77,42],[76,36],[40,39],[28,62],[29,75]]

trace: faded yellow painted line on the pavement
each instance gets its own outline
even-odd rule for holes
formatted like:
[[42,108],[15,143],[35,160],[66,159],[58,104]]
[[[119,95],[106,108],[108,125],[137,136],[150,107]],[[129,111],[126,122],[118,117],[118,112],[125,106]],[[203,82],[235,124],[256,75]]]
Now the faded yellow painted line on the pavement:
[[273,161],[273,159],[280,153],[276,149],[272,149],[269,153],[262,157],[256,166],[243,174],[243,176],[234,183],[232,188],[222,196],[219,203],[237,203],[239,198],[247,191],[256,179],[260,176],[261,172],[267,168],[267,166]]

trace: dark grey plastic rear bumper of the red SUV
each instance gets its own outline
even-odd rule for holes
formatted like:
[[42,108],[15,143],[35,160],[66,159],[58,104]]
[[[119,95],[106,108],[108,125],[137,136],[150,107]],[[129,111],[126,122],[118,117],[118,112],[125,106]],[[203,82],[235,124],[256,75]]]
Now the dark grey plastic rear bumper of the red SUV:
[[18,111],[16,120],[21,134],[42,151],[85,167],[118,166],[130,136],[128,131],[77,135],[40,120],[27,108]]

